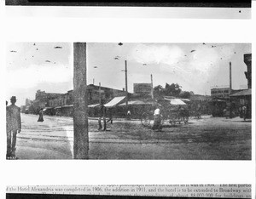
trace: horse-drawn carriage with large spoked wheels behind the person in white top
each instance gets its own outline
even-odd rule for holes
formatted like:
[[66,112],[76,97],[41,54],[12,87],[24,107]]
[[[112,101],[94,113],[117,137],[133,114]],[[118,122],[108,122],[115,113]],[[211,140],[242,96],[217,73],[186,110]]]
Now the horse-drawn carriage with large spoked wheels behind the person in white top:
[[[189,109],[181,99],[159,99],[153,109],[160,107],[162,126],[173,126],[189,122]],[[143,112],[141,122],[144,127],[152,128],[154,125],[154,111]]]

